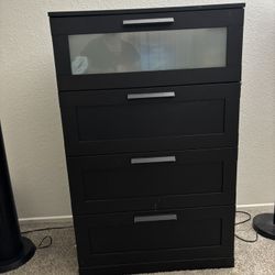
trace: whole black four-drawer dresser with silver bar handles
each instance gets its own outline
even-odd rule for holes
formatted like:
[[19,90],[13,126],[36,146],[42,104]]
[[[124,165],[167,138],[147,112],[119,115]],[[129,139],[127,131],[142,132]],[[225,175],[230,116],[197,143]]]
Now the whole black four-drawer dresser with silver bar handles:
[[243,8],[50,13],[80,274],[234,265]]

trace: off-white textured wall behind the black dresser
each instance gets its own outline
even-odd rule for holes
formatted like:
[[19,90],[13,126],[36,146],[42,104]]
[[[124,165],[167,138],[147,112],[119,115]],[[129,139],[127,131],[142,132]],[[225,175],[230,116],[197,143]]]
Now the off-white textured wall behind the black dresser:
[[[0,0],[0,118],[19,216],[70,213],[48,11],[230,0]],[[275,1],[245,9],[238,202],[275,199]]]

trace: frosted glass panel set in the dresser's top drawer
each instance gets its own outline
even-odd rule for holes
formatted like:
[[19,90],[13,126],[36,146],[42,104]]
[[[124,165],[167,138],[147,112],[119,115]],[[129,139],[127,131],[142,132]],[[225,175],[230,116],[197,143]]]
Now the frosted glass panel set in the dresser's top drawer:
[[224,67],[227,28],[69,35],[73,75]]

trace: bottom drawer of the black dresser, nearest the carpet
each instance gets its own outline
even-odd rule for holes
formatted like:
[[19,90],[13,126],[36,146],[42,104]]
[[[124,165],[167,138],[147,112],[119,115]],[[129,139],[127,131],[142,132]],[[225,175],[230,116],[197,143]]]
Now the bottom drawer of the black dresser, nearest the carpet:
[[75,217],[79,265],[232,257],[234,207]]

